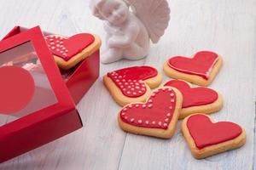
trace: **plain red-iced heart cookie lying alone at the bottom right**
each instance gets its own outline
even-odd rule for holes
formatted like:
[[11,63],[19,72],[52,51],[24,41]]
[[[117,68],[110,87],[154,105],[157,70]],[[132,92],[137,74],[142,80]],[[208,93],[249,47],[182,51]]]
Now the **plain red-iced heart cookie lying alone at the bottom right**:
[[192,154],[198,159],[236,149],[246,141],[244,129],[236,123],[214,123],[204,114],[186,117],[182,130]]

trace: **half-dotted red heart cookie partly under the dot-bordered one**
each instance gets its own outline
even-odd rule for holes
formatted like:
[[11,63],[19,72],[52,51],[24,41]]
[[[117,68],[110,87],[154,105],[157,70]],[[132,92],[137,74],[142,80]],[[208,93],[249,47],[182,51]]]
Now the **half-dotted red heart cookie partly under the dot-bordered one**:
[[150,66],[134,66],[108,72],[103,78],[119,105],[145,101],[150,94],[150,88],[158,87],[161,79],[160,73]]

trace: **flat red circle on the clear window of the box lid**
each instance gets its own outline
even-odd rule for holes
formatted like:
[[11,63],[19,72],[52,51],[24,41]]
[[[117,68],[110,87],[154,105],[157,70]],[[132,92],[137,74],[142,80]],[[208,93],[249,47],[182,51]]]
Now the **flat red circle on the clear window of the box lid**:
[[0,68],[0,114],[13,114],[32,99],[35,82],[25,69],[17,66]]

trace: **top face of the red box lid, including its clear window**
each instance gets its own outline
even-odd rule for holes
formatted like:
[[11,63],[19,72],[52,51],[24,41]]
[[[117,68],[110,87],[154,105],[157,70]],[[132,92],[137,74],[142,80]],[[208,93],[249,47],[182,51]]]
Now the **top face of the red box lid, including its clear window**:
[[0,42],[0,114],[19,116],[0,138],[75,110],[39,26]]

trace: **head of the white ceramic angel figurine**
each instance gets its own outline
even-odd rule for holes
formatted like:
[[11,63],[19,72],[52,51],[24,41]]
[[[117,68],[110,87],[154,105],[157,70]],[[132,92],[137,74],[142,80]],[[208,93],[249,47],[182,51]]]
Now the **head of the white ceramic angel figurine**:
[[92,0],[91,8],[96,17],[114,26],[124,23],[129,15],[129,6],[123,0]]

